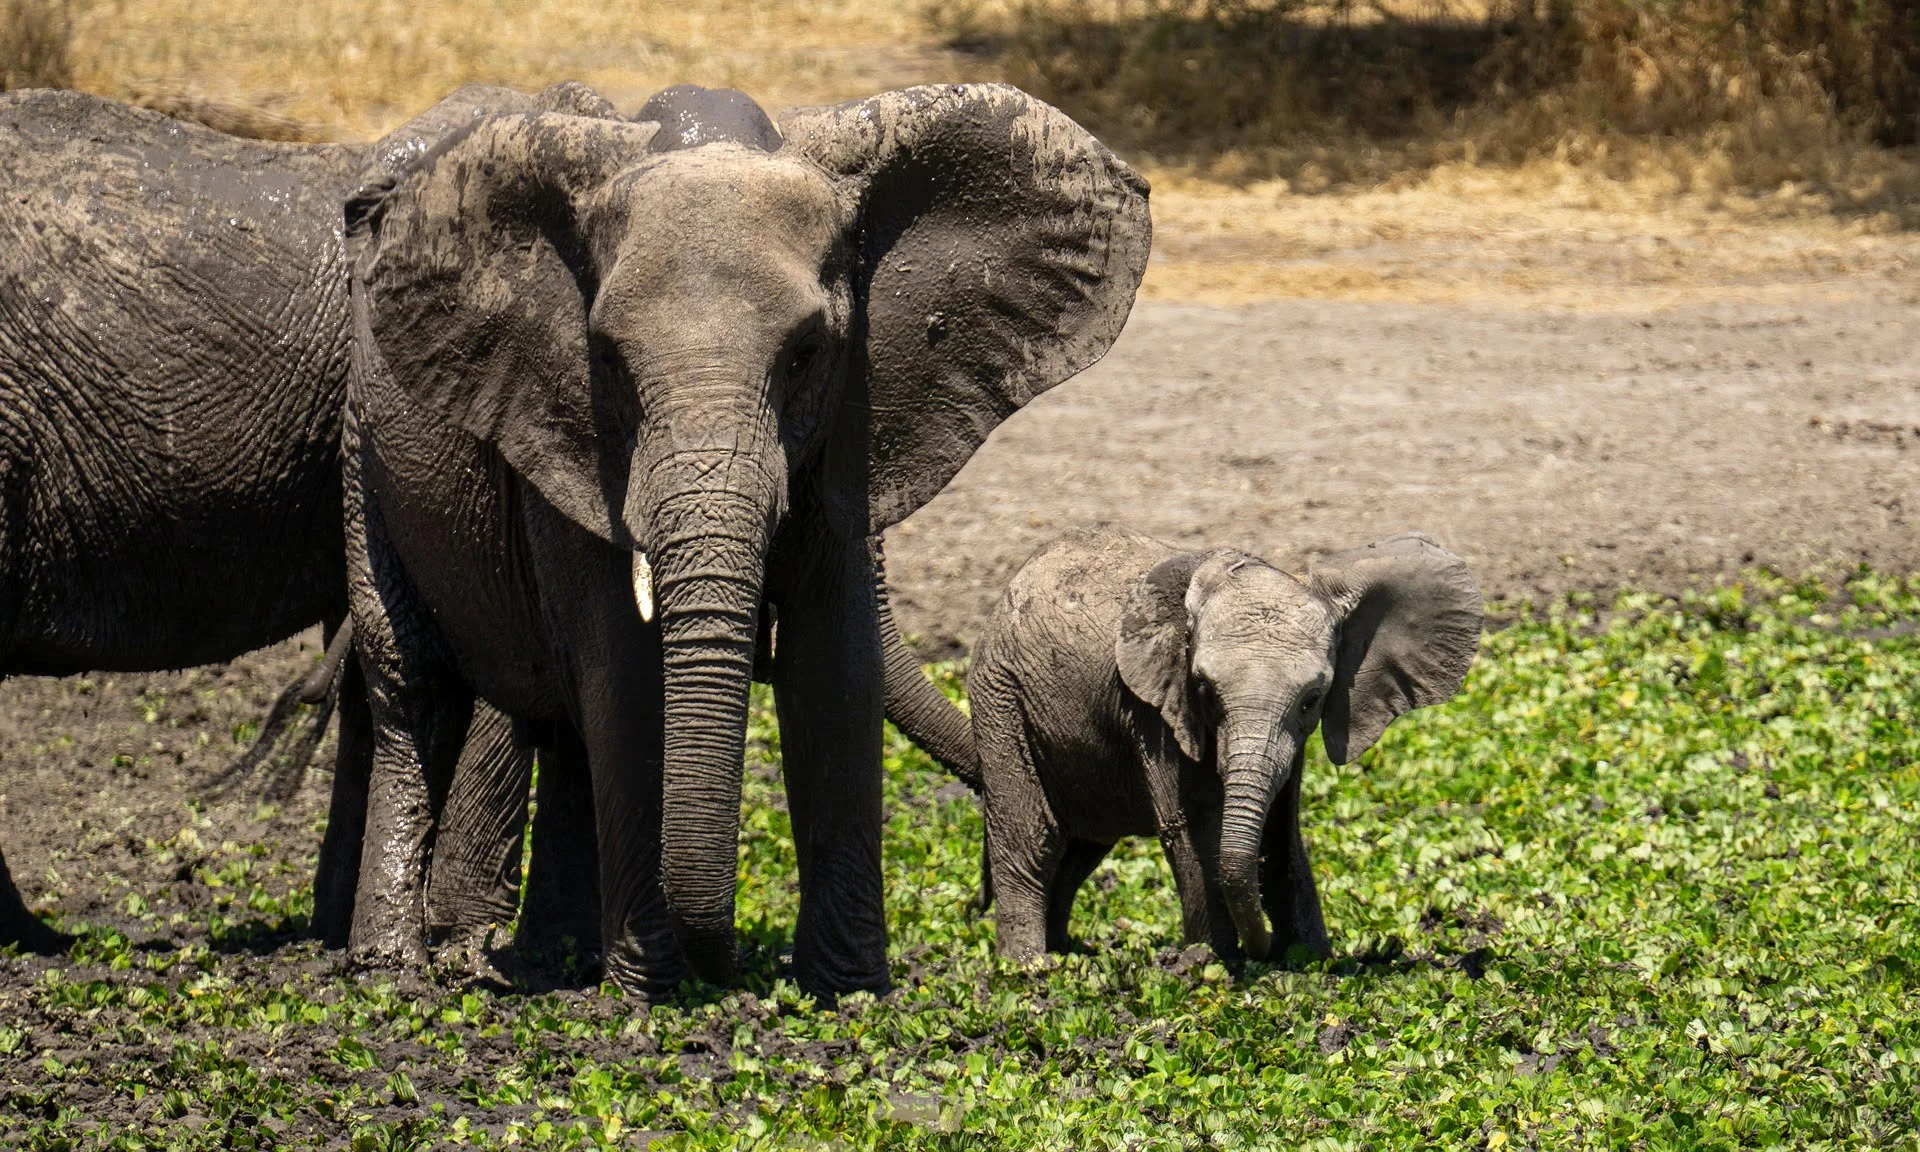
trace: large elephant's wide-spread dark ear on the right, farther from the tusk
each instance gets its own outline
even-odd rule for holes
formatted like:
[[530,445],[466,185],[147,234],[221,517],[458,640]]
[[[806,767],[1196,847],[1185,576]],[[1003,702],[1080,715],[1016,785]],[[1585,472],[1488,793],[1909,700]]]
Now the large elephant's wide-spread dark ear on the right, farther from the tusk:
[[1146,180],[1006,84],[789,109],[780,131],[858,198],[879,530],[1114,344],[1152,244]]

